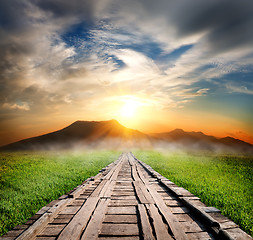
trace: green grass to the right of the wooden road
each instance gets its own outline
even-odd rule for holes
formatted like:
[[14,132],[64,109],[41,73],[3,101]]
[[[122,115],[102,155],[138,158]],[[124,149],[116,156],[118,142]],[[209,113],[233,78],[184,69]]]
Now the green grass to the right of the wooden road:
[[138,159],[220,209],[253,236],[253,157],[136,151]]

